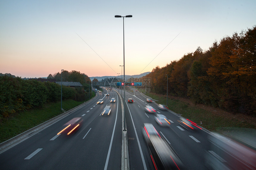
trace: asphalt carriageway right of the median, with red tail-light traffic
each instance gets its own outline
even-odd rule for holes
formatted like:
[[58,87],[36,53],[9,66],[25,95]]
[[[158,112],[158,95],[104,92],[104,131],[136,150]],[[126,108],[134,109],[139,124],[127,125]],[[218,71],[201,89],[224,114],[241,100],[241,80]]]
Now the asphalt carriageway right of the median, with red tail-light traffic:
[[[141,132],[144,123],[153,124],[160,136],[168,140],[184,161],[186,169],[207,169],[204,165],[205,150],[209,147],[207,133],[202,130],[186,130],[177,123],[178,115],[158,109],[155,103],[147,103],[139,92],[133,91],[126,93],[127,99],[134,100],[133,103],[126,103],[130,169],[153,169],[150,154]],[[156,113],[145,112],[146,105],[156,109]],[[171,123],[170,126],[158,125],[154,119],[155,114],[165,115]]]

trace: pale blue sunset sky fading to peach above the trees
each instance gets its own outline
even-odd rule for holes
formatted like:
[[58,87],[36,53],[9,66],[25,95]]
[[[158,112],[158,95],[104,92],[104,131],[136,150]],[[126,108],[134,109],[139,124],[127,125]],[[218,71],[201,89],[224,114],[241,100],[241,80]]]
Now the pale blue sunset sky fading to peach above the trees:
[[[150,72],[256,24],[255,0],[0,1],[0,73]],[[150,63],[151,62],[151,63]]]

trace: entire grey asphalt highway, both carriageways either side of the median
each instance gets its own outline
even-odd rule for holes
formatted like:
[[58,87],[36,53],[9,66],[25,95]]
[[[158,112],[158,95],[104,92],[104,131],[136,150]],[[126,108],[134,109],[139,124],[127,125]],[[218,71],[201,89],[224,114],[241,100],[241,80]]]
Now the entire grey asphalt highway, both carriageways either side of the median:
[[[121,93],[121,90],[119,92]],[[106,96],[106,93],[109,93],[109,96]],[[115,103],[110,103],[113,97]],[[128,103],[128,98],[132,98],[134,102]],[[104,102],[96,104],[99,99]],[[10,149],[0,152],[1,169],[121,169],[121,100],[123,99],[119,97],[117,89],[104,89],[102,93],[97,93],[95,99],[83,107],[29,135]],[[144,110],[146,105],[152,106],[156,112],[147,113]],[[105,106],[111,106],[110,115],[101,114]],[[214,147],[210,147],[210,141],[207,139],[209,133],[206,130],[185,129],[178,124],[180,115],[169,110],[160,110],[154,102],[147,103],[146,98],[135,89],[133,92],[126,92],[124,106],[129,169],[155,169],[141,130],[144,123],[151,123],[160,137],[177,152],[184,163],[181,169],[208,169],[205,166],[207,154],[213,156],[214,161],[218,159],[227,162],[216,154],[218,148],[213,150]],[[170,124],[167,127],[158,125],[154,119],[156,114],[165,115]],[[63,125],[75,117],[83,118],[81,127],[69,135],[57,135]],[[220,153],[220,150],[218,152]],[[255,157],[255,153],[252,156]]]

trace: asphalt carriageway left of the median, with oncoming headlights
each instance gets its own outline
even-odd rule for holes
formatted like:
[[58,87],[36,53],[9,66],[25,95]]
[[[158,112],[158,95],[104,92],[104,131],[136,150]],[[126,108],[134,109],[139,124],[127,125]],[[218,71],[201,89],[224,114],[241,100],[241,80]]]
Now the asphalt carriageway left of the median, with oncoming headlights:
[[[106,93],[106,90],[104,90]],[[96,99],[0,154],[1,169],[121,169],[122,115],[117,94]],[[110,103],[112,97],[115,103]],[[96,104],[104,98],[103,104]],[[106,105],[111,114],[102,116]],[[74,117],[84,119],[73,134],[57,133]]]

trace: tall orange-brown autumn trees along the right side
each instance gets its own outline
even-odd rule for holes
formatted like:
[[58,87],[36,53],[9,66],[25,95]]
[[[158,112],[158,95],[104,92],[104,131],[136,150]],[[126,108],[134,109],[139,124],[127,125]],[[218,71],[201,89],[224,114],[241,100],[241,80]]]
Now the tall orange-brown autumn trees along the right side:
[[256,115],[256,26],[213,42],[209,50],[198,47],[178,61],[155,67],[151,91]]

